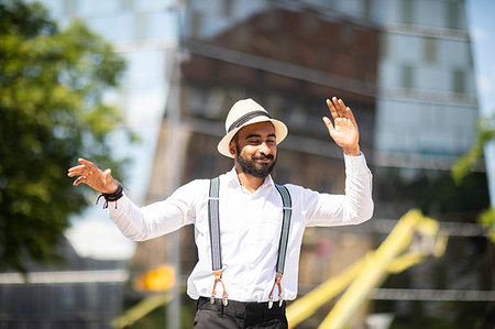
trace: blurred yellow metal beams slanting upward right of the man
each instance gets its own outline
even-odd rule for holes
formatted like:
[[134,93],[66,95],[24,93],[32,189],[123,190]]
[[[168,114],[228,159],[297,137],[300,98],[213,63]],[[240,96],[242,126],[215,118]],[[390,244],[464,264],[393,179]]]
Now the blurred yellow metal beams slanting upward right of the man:
[[346,288],[319,329],[344,327],[356,308],[380,286],[389,273],[399,273],[420,263],[425,257],[441,256],[447,235],[439,232],[438,221],[410,210],[374,252],[355,262],[343,273],[298,298],[287,308],[293,328],[310,317],[322,304]]

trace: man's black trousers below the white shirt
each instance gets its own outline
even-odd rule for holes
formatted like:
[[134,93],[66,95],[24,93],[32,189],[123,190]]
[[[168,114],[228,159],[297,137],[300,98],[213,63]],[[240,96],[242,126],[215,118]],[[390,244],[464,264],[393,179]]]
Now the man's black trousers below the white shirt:
[[287,329],[285,306],[285,301],[282,306],[278,306],[278,301],[275,301],[273,307],[268,308],[268,303],[242,303],[235,300],[229,300],[229,305],[223,306],[222,299],[216,299],[215,304],[211,304],[210,298],[200,297],[194,328]]

